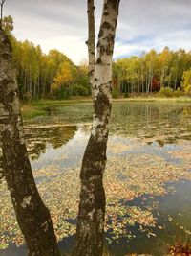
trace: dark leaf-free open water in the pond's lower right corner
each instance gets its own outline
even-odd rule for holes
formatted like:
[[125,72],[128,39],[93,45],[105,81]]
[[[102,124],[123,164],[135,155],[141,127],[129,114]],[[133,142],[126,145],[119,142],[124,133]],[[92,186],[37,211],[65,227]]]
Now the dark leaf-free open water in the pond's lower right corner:
[[[158,219],[158,225],[150,229],[151,232],[157,234],[157,237],[151,236],[148,238],[146,234],[138,232],[138,226],[137,230],[133,227],[136,237],[128,244],[125,240],[121,240],[119,244],[110,245],[111,252],[115,256],[124,255],[121,253],[120,247],[123,248],[122,251],[124,253],[127,252],[128,248],[128,253],[136,251],[138,254],[146,252],[155,256],[162,256],[166,249],[166,242],[169,244],[174,243],[177,239],[185,237],[180,226],[186,226],[187,229],[191,229],[191,197],[188,197],[190,195],[190,181],[173,182],[168,185],[175,188],[175,194],[155,198],[150,198],[149,195],[142,195],[140,198],[135,198],[128,202],[128,205],[141,205],[142,208],[146,208],[152,201],[158,201],[158,207],[153,210],[154,216]],[[161,226],[165,226],[165,229],[159,229]]]

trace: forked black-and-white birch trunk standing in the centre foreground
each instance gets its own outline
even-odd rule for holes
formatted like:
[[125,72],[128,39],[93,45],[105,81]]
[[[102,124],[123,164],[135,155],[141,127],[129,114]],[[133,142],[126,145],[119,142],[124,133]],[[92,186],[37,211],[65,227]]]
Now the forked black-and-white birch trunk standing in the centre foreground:
[[[81,192],[74,256],[101,256],[104,245],[105,191],[108,124],[112,108],[112,57],[119,0],[104,0],[95,57],[94,0],[88,0],[89,80],[92,86],[94,120],[82,160]],[[96,59],[96,61],[95,61]]]

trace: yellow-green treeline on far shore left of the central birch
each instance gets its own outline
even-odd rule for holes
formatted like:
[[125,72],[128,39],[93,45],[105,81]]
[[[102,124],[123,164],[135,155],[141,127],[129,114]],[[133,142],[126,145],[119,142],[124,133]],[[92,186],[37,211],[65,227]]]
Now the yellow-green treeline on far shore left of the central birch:
[[20,42],[11,34],[11,16],[3,20],[4,30],[11,38],[13,59],[22,100],[42,98],[66,99],[73,95],[89,95],[88,69],[57,50],[44,54],[32,42]]

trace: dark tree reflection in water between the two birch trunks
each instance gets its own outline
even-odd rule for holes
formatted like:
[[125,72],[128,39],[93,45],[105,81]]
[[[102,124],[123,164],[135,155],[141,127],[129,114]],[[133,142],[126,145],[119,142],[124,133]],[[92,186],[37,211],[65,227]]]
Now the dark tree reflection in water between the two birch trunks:
[[47,144],[58,149],[74,137],[76,126],[29,126],[25,128],[28,152],[32,160],[45,153]]

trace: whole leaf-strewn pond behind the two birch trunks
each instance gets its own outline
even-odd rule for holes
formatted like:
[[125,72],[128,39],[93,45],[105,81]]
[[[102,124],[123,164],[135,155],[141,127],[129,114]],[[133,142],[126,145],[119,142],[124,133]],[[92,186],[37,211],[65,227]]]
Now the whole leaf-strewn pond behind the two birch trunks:
[[[74,244],[92,116],[92,105],[80,103],[50,106],[46,116],[25,121],[35,182],[63,252]],[[191,104],[114,103],[104,184],[112,255],[165,255],[168,244],[190,239]],[[27,255],[4,180],[0,213],[0,256]]]

